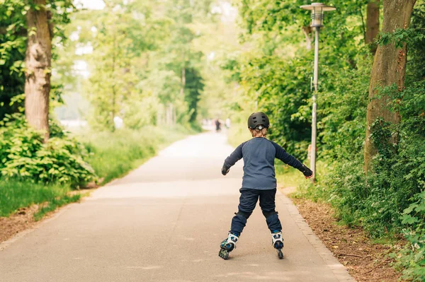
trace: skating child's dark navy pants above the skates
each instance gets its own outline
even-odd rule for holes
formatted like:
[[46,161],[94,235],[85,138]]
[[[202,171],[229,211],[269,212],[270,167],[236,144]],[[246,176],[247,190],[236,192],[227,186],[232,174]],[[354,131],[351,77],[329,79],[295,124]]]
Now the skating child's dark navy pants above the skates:
[[278,213],[275,211],[276,189],[259,190],[242,188],[239,190],[241,196],[239,198],[239,211],[232,219],[232,227],[230,232],[240,234],[246,225],[246,220],[251,216],[252,211],[260,199],[261,211],[266,218],[268,229],[271,232],[282,230]]

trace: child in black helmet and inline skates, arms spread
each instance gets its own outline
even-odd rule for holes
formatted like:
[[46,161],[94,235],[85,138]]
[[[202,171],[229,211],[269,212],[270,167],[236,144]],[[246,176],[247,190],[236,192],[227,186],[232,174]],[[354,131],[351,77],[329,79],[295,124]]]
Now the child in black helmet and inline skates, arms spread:
[[236,247],[242,230],[246,225],[246,220],[251,216],[260,200],[261,211],[266,218],[268,229],[271,231],[273,247],[278,250],[278,256],[283,258],[281,249],[283,248],[282,225],[280,224],[278,213],[275,211],[276,177],[274,159],[278,158],[283,163],[297,168],[306,178],[313,175],[312,170],[303,165],[292,155],[286,153],[278,144],[265,138],[270,123],[268,117],[263,112],[254,112],[248,118],[248,128],[251,131],[252,139],[240,144],[232,154],[230,154],[223,164],[222,175],[227,175],[229,169],[238,160],[244,158],[244,177],[242,178],[242,188],[239,190],[239,211],[232,219],[232,226],[227,239],[220,245],[219,256],[222,259],[229,257]]

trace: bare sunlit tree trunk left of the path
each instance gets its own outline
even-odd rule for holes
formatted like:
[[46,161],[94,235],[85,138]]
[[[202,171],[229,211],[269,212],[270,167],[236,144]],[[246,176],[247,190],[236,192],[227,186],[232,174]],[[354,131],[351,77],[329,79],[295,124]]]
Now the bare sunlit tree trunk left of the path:
[[52,36],[45,8],[46,0],[34,0],[39,10],[26,14],[28,46],[26,50],[25,114],[28,123],[49,139],[49,95],[52,60]]

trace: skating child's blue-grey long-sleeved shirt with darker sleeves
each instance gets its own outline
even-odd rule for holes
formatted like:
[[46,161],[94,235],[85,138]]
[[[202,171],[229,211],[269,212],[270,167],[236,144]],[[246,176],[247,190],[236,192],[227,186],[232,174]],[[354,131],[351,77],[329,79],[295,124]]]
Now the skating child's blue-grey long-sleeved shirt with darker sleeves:
[[223,168],[232,167],[238,160],[244,158],[244,177],[242,187],[251,189],[275,189],[276,173],[274,159],[278,158],[283,163],[302,171],[303,165],[293,155],[278,144],[265,139],[253,138],[240,144],[225,160]]

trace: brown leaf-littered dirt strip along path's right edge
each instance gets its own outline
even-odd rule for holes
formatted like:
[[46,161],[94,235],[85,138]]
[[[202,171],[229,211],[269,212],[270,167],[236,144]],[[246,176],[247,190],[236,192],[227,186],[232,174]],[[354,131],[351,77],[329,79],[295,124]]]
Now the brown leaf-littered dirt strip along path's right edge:
[[373,242],[361,228],[338,225],[329,204],[290,197],[313,232],[358,282],[397,282],[399,274],[387,254],[393,246]]

